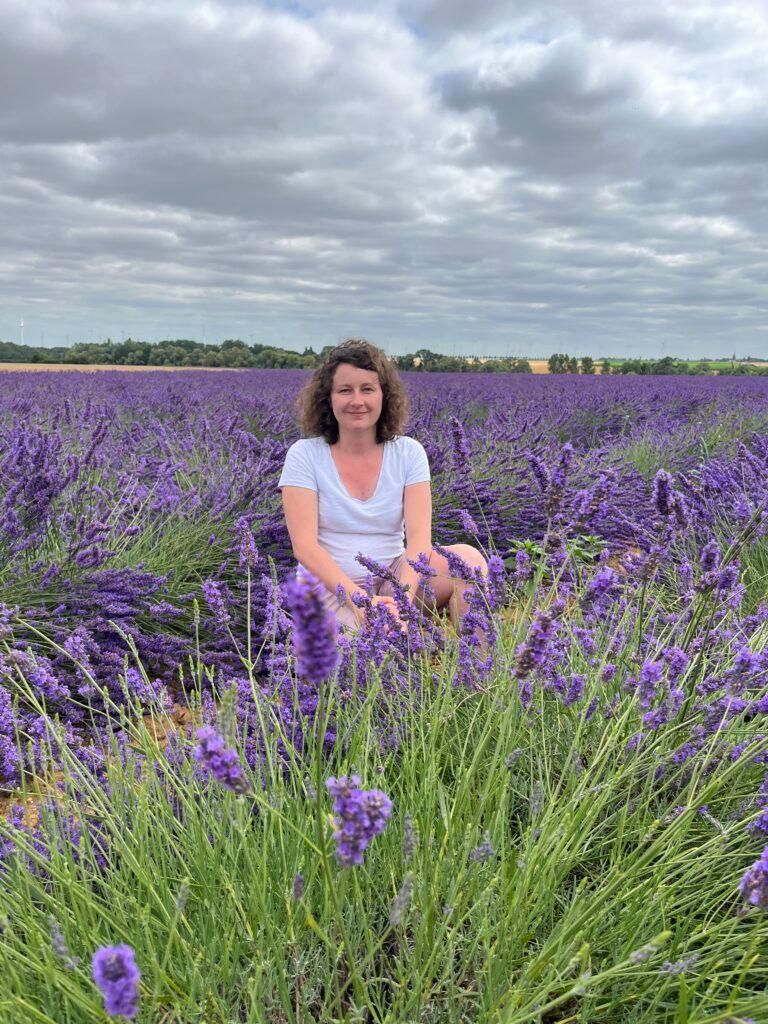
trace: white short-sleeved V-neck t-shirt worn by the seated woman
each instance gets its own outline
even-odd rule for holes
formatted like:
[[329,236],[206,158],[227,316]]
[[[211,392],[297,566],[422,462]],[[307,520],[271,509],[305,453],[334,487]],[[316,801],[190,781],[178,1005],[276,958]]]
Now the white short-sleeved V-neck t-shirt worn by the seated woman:
[[328,441],[307,437],[288,450],[278,486],[317,492],[317,543],[350,580],[359,582],[368,571],[355,561],[356,554],[387,563],[406,550],[402,488],[425,480],[426,452],[414,437],[396,437],[384,442],[376,490],[360,501],[341,482]]

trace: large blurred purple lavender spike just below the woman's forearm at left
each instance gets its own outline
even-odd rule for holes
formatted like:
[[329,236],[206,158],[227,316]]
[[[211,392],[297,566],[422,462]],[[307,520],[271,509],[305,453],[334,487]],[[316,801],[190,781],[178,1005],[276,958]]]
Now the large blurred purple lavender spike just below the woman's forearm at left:
[[339,664],[336,616],[323,607],[317,582],[311,577],[306,581],[290,581],[285,594],[293,620],[293,645],[299,676],[310,683],[322,683]]

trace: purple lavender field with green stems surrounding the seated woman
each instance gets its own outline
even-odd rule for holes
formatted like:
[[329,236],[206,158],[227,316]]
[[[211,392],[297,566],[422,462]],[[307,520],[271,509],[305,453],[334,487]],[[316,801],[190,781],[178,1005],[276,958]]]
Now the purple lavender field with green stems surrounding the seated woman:
[[0,373],[0,1020],[768,1020],[768,379],[406,378],[459,635],[291,582],[303,373]]

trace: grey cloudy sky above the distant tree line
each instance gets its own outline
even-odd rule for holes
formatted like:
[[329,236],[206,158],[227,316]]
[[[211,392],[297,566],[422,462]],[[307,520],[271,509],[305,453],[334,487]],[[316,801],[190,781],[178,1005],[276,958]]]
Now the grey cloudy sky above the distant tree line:
[[0,0],[0,339],[768,354],[765,0]]

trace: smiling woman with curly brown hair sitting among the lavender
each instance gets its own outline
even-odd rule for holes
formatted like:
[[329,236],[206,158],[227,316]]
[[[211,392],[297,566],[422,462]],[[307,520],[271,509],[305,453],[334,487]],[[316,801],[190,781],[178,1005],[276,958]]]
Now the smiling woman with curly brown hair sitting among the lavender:
[[[424,553],[436,572],[430,579],[436,606],[447,605],[458,625],[467,585],[452,578],[432,547],[429,463],[422,445],[401,433],[408,397],[392,364],[375,345],[350,338],[315,370],[298,404],[308,436],[288,450],[278,485],[299,573],[316,577],[324,605],[342,626],[355,628],[364,612],[351,598],[365,594],[368,574],[355,556],[388,565],[414,600],[422,596],[421,578],[409,559]],[[451,550],[486,572],[474,548]],[[399,617],[390,584],[377,581],[373,603]]]

